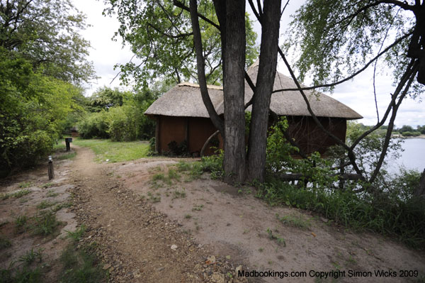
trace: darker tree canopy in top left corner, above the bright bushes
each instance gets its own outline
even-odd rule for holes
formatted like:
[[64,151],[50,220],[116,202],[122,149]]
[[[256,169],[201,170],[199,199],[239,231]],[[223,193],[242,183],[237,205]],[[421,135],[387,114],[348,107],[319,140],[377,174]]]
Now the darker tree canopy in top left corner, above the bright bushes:
[[94,77],[85,16],[70,0],[0,0],[0,48],[35,71],[79,84]]

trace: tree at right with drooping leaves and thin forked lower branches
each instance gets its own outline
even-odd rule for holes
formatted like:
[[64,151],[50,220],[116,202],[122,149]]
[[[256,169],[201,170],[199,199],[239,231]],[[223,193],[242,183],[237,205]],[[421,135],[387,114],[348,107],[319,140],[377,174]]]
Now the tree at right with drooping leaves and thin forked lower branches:
[[[314,77],[313,87],[301,88],[298,84],[303,96],[302,89],[332,88],[378,60],[383,60],[394,70],[395,90],[383,116],[378,115],[378,123],[350,146],[338,140],[348,152],[349,165],[362,174],[353,150],[363,138],[388,120],[382,152],[373,174],[367,179],[370,184],[378,177],[384,162],[399,106],[406,96],[419,95],[424,89],[424,21],[425,1],[421,0],[310,0],[297,11],[290,29],[292,36],[286,46],[300,49],[296,63],[300,78],[309,72]],[[283,52],[281,55],[297,82]],[[343,79],[344,74],[346,78]]]

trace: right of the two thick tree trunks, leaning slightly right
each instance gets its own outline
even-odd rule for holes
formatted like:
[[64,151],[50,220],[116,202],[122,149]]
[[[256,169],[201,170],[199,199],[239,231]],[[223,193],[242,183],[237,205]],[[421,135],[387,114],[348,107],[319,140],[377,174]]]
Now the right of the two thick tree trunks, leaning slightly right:
[[248,180],[263,182],[266,176],[268,109],[276,75],[280,23],[280,1],[264,1],[261,14],[259,72],[252,103],[248,147]]

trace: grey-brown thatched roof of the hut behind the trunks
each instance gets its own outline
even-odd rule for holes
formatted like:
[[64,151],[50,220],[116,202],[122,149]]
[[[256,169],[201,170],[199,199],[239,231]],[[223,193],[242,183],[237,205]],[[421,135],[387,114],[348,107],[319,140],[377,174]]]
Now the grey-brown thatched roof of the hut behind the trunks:
[[[248,68],[247,73],[251,80],[256,83],[258,72],[258,61]],[[286,77],[279,72],[276,73],[273,89],[293,89],[296,88],[293,79]],[[208,86],[212,104],[217,113],[222,114],[223,92],[222,87]],[[248,84],[245,84],[245,103],[251,99],[253,92]],[[310,106],[316,116],[346,118],[348,120],[363,118],[360,114],[336,99],[319,93],[318,91],[305,91]],[[299,91],[276,92],[271,96],[271,110],[281,116],[310,116],[307,106]],[[247,109],[250,111],[251,109]],[[147,115],[183,116],[183,117],[205,117],[208,118],[208,111],[200,96],[198,84],[182,83],[176,85],[145,111]]]

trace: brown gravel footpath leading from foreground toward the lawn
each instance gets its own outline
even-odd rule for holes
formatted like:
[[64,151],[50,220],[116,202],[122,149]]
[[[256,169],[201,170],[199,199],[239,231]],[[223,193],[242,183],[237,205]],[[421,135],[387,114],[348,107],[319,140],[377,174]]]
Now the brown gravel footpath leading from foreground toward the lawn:
[[74,212],[89,227],[85,240],[100,245],[112,282],[225,282],[232,274],[229,262],[205,265],[208,248],[113,178],[114,165],[95,164],[91,150],[74,149]]

